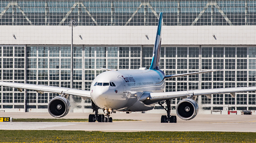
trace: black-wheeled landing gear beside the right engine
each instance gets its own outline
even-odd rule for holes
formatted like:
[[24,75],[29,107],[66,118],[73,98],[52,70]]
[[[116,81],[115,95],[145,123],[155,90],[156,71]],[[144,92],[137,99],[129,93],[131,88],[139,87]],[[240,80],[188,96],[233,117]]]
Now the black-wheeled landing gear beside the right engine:
[[170,100],[165,101],[167,108],[164,108],[162,105],[163,103],[158,102],[158,104],[165,109],[167,112],[167,115],[162,115],[161,117],[161,123],[177,123],[177,117],[176,116],[171,116],[171,102]]

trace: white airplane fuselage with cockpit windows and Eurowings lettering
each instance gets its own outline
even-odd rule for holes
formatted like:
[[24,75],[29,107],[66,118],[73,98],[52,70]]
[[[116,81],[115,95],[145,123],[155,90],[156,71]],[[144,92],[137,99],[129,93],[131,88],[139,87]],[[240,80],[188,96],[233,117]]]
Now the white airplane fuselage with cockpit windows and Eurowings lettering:
[[93,102],[101,109],[146,111],[155,104],[145,105],[138,99],[144,92],[163,92],[164,86],[161,70],[106,71],[94,79],[90,92]]

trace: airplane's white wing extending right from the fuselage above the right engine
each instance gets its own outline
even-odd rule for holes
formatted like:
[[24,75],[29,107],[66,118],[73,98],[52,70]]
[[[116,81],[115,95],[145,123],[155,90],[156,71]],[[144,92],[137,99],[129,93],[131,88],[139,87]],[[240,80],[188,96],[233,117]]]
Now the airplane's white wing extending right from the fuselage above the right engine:
[[157,102],[168,100],[168,99],[173,99],[178,97],[187,97],[187,96],[229,93],[231,94],[232,97],[235,97],[236,92],[253,92],[253,91],[256,91],[256,86],[200,89],[200,90],[189,90],[189,91],[179,91],[179,92],[158,92],[158,93],[150,93],[146,95],[147,97],[142,97],[139,100],[144,102],[145,104],[151,104],[151,103],[157,103]]

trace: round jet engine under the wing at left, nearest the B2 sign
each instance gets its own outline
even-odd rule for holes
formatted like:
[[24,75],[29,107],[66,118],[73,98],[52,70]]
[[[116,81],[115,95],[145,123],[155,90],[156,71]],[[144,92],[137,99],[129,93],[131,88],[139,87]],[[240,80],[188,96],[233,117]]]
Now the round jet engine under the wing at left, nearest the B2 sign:
[[65,97],[54,97],[48,104],[48,112],[55,118],[64,117],[69,113],[70,103]]

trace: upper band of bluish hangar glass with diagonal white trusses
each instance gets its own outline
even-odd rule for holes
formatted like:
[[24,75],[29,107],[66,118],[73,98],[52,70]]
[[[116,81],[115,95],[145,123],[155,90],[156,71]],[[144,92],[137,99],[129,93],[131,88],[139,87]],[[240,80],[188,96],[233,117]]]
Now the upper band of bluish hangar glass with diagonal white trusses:
[[256,25],[255,0],[0,0],[0,25]]

